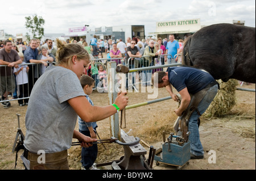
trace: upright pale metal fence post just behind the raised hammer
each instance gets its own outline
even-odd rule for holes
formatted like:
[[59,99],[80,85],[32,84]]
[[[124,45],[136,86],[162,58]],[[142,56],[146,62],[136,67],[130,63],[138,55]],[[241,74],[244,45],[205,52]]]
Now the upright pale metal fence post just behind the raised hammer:
[[[117,67],[116,62],[107,62],[107,72],[108,72],[108,94],[109,94],[109,105],[114,103],[115,98],[117,98],[117,91],[115,90],[115,85],[117,81],[115,80],[115,68]],[[118,140],[120,140],[120,130],[119,130],[119,116],[118,112],[110,116],[110,134]]]

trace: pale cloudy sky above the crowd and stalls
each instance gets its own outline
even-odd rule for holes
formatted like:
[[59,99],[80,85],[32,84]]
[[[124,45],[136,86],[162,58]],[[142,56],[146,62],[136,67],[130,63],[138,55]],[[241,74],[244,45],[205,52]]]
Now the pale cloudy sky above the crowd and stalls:
[[1,1],[0,30],[16,35],[28,32],[25,17],[42,16],[44,33],[68,33],[68,28],[144,25],[155,32],[156,22],[200,18],[204,22],[245,20],[255,27],[255,1],[170,0],[13,0]]

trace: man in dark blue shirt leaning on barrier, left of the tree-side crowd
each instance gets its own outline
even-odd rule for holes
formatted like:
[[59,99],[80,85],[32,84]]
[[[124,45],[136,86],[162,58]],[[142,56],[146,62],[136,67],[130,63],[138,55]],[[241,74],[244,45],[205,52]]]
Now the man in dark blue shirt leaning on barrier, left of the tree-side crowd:
[[[36,39],[30,40],[30,46],[24,52],[24,62],[26,63],[35,63],[36,56],[38,56],[38,44]],[[35,69],[38,69],[38,66],[28,65],[30,71],[28,71],[28,86],[29,86],[29,95],[31,94],[32,88],[36,82],[37,78],[34,78]]]

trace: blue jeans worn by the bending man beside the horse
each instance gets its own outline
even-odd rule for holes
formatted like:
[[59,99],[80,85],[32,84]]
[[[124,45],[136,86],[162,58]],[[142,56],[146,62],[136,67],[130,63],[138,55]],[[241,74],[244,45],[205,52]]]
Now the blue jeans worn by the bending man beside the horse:
[[[214,85],[210,87],[207,94],[204,96],[203,100],[201,100],[201,102],[199,103],[199,106],[197,107],[201,115],[210,106],[210,103],[212,103],[212,100],[216,96],[217,91],[218,91],[218,85]],[[190,132],[188,139],[191,145],[191,154],[197,155],[197,156],[204,155],[204,149],[201,144],[200,136],[199,136],[199,127],[197,125],[197,119],[199,117],[200,116],[197,114],[197,112],[194,111],[188,122],[188,131]]]

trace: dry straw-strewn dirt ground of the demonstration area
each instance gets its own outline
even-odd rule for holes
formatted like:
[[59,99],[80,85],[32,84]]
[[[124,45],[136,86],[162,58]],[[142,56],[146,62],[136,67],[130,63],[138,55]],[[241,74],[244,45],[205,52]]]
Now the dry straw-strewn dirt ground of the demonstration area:
[[[255,89],[255,84],[243,85],[242,88]],[[148,87],[150,89],[150,87]],[[151,93],[149,93],[151,94]],[[148,93],[129,92],[129,105],[148,101]],[[159,89],[158,99],[169,96],[164,89]],[[204,159],[191,160],[184,170],[255,170],[255,92],[236,91],[237,104],[223,117],[213,117],[210,120],[201,119],[200,139],[204,147]],[[97,106],[108,105],[108,94],[93,91],[90,98]],[[166,127],[171,128],[176,120],[174,109],[177,103],[174,100],[148,104],[147,106],[132,108],[126,111],[126,133],[138,136],[148,145],[161,148],[162,130],[152,131],[160,121],[167,120]],[[20,114],[20,128],[26,134],[25,115],[27,107],[19,107],[17,101],[11,101],[10,108],[0,105],[0,169],[12,170],[15,165],[15,153],[12,153],[14,140],[18,128],[16,113]],[[98,134],[101,138],[110,138],[110,120],[105,119],[98,123]],[[158,127],[157,127],[158,128]],[[76,125],[78,130],[78,125]],[[171,129],[170,129],[171,130]],[[152,133],[153,132],[153,133]],[[75,141],[75,140],[74,140]],[[146,150],[148,147],[141,142]],[[96,163],[105,163],[119,159],[124,153],[117,144],[108,144],[106,149],[99,145]],[[209,163],[209,157],[214,150],[216,163]],[[69,166],[71,169],[81,169],[80,146],[72,146],[68,150]],[[20,151],[22,152],[22,151]],[[147,151],[148,152],[148,151]],[[146,155],[147,157],[147,155]],[[176,167],[162,164],[155,170],[171,170]],[[20,159],[16,169],[24,169]],[[106,169],[102,167],[101,169]]]

